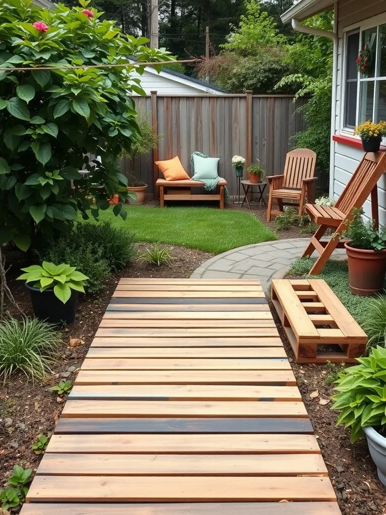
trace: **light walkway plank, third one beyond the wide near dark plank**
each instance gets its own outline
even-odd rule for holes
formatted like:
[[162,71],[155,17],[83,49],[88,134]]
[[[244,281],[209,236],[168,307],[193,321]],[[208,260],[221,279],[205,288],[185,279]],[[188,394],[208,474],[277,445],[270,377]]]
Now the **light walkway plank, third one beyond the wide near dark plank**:
[[[265,367],[265,370],[263,369]],[[296,386],[288,361],[262,362],[260,370],[80,370],[78,385],[103,384],[234,384]],[[275,370],[275,373],[272,373]]]

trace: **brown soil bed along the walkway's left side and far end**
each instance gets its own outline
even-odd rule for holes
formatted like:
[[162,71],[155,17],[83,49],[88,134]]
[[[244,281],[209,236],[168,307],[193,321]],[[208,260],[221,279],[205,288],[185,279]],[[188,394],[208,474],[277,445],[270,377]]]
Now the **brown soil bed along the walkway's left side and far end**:
[[[151,244],[135,244],[138,255],[151,249]],[[9,486],[15,464],[36,470],[60,417],[66,395],[76,379],[79,367],[89,349],[101,318],[120,277],[189,277],[212,254],[184,247],[162,245],[172,256],[160,267],[135,260],[126,269],[110,278],[99,296],[79,296],[76,321],[61,329],[62,343],[57,363],[44,384],[26,384],[25,377],[12,376],[10,382],[0,385],[0,490]],[[8,284],[17,303],[27,314],[31,304],[22,281],[16,281],[20,268],[30,264],[22,252],[7,255],[12,263]],[[11,313],[18,316],[16,311]],[[14,511],[15,512],[15,511]]]

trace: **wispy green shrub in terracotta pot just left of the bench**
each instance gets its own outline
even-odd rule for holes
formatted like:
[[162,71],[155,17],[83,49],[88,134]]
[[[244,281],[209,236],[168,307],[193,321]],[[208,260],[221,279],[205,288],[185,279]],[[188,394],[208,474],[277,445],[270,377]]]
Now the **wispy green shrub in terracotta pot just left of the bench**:
[[132,142],[130,151],[122,149],[119,158],[129,162],[130,174],[128,182],[128,191],[134,195],[130,195],[129,204],[143,204],[145,202],[145,194],[147,183],[137,179],[134,176],[134,166],[136,160],[140,156],[146,156],[150,150],[157,148],[160,135],[156,133],[153,126],[147,121],[146,114],[139,110],[137,114],[137,124],[141,131],[141,138]]

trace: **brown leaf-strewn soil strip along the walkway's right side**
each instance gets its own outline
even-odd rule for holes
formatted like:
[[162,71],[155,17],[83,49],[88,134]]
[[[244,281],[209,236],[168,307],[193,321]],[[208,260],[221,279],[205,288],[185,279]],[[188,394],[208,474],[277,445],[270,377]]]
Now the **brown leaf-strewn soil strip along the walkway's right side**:
[[289,356],[297,386],[318,439],[342,515],[386,514],[386,487],[377,475],[366,439],[350,443],[350,432],[336,427],[339,411],[331,411],[334,381],[345,365],[301,365],[283,332],[275,308],[270,304],[280,337]]

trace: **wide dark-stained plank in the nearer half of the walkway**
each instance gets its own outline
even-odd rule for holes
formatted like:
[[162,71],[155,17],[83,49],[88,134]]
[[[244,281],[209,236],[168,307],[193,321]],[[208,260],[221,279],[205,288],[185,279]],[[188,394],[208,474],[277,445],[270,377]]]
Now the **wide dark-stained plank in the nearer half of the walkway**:
[[308,418],[61,418],[60,434],[313,434]]

